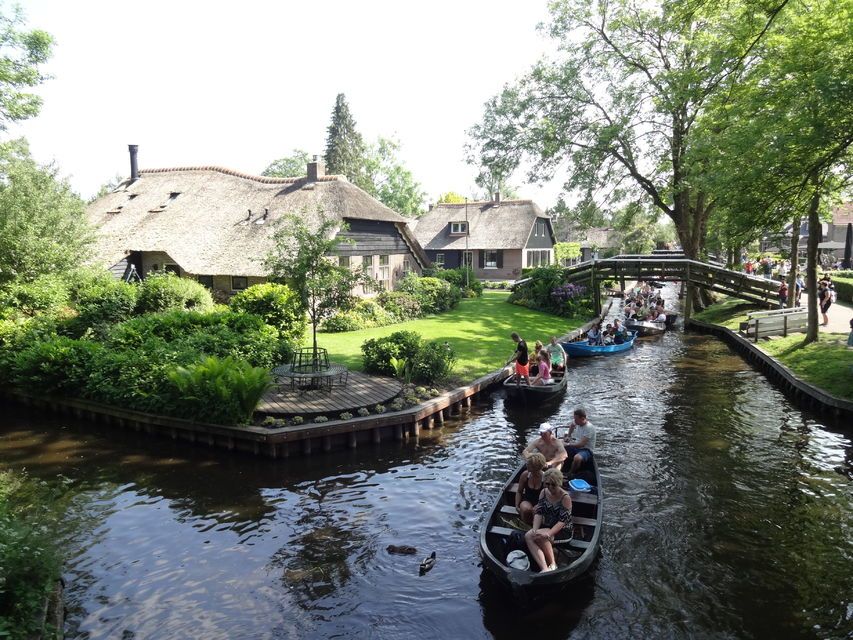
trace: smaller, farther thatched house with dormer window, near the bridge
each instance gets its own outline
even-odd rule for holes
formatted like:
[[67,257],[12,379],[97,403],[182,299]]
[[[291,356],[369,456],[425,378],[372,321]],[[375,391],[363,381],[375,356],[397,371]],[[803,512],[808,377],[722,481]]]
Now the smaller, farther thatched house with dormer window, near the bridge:
[[415,235],[434,263],[450,269],[467,261],[489,280],[554,260],[551,219],[531,200],[440,203],[421,216]]

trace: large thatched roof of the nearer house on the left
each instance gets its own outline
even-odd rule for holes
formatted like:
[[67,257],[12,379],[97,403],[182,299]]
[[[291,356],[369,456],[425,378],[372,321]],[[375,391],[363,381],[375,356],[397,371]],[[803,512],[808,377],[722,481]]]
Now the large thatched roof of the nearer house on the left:
[[297,213],[319,225],[318,211],[337,220],[392,222],[415,257],[429,262],[401,215],[342,176],[309,182],[212,166],[148,169],[92,202],[87,215],[97,228],[95,260],[105,266],[130,251],[163,251],[189,273],[265,276],[275,222]]

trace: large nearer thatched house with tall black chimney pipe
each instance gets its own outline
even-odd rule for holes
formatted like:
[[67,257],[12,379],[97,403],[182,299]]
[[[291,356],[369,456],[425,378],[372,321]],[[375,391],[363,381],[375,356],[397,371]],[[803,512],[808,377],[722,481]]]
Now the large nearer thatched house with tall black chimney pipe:
[[320,212],[345,221],[342,235],[355,243],[342,243],[337,253],[358,258],[354,267],[372,267],[388,287],[405,270],[428,264],[401,215],[344,177],[325,175],[322,163],[309,163],[297,178],[213,166],[137,173],[131,154],[131,177],[87,209],[97,229],[95,260],[119,276],[167,269],[226,292],[245,288],[265,279],[275,223],[290,213],[309,226],[319,224]]

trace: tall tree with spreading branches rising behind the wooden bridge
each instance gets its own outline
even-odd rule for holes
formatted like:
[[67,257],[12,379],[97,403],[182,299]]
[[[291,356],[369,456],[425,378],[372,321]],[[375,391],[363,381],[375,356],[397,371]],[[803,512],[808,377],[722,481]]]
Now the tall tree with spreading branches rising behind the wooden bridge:
[[558,57],[486,104],[471,130],[482,164],[508,175],[530,158],[531,180],[568,168],[567,190],[639,192],[699,257],[714,201],[695,186],[694,124],[787,1],[551,2],[545,31]]

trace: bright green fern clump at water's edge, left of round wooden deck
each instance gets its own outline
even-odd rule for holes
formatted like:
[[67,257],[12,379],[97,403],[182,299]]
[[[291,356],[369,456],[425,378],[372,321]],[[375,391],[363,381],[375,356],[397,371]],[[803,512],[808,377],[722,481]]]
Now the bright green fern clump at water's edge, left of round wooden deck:
[[249,422],[272,379],[266,369],[233,358],[205,358],[168,372],[175,414],[198,422]]

